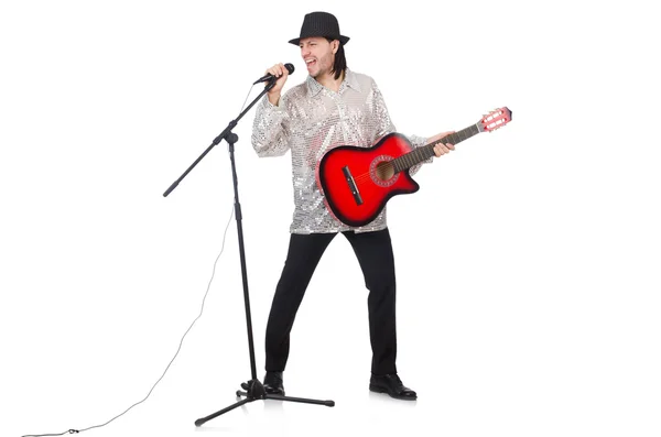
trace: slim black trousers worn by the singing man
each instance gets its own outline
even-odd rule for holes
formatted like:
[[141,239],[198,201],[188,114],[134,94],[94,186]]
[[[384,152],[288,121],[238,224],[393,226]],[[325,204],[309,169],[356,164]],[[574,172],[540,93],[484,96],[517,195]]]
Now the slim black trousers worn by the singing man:
[[[342,232],[354,249],[369,291],[367,298],[373,374],[397,373],[395,277],[388,229]],[[290,332],[305,289],[336,233],[292,233],[275,287],[266,337],[266,370],[284,371]]]

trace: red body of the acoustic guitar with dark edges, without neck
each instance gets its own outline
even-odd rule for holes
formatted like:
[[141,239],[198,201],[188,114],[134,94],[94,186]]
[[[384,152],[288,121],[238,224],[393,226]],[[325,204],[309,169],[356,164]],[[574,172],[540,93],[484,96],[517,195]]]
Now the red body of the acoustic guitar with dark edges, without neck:
[[349,226],[365,226],[377,218],[392,196],[418,192],[420,186],[408,171],[393,174],[388,165],[412,149],[404,135],[393,132],[371,148],[340,145],[328,151],[319,161],[316,176],[335,218]]

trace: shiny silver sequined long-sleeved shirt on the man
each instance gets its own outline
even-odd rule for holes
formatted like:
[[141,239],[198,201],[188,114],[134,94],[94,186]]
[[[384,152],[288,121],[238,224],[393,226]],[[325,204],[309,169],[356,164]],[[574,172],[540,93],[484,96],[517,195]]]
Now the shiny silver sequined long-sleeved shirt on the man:
[[[371,146],[394,131],[375,80],[350,69],[346,70],[337,92],[307,76],[304,83],[284,92],[278,106],[264,95],[256,105],[252,146],[259,156],[281,156],[291,151],[294,212],[290,232],[384,229],[387,207],[362,227],[349,227],[333,217],[317,187],[315,172],[328,150],[338,145]],[[408,135],[408,139],[414,148],[426,143],[422,136]],[[411,167],[410,173],[414,174],[420,166]]]

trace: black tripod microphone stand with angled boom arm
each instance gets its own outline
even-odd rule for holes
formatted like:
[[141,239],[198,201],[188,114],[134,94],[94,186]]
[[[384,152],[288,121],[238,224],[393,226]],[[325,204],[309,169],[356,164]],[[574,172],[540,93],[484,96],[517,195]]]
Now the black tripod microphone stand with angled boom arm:
[[275,77],[271,78],[269,80],[268,85],[264,87],[264,90],[262,92],[260,92],[260,95],[257,96],[257,98],[254,98],[254,100],[252,100],[252,102],[241,113],[239,113],[239,116],[235,120],[231,120],[229,122],[227,128],[225,128],[225,130],[218,136],[216,136],[214,139],[212,144],[202,153],[202,155],[199,155],[199,157],[197,160],[195,160],[195,162],[180,176],[180,178],[176,179],[170,186],[170,188],[167,188],[167,190],[165,193],[163,193],[163,197],[167,197],[167,195],[170,193],[172,193],[172,190],[174,188],[176,188],[176,186],[184,179],[184,177],[186,177],[186,175],[188,173],[191,173],[191,171],[204,159],[204,156],[206,156],[206,154],[215,145],[217,145],[223,140],[227,141],[227,143],[229,144],[229,157],[230,157],[230,162],[231,162],[231,174],[232,174],[232,181],[234,181],[235,218],[237,221],[237,232],[238,232],[238,237],[239,237],[239,255],[240,255],[240,261],[241,261],[241,276],[242,276],[242,281],[243,281],[243,302],[245,302],[245,306],[246,306],[246,324],[247,324],[247,328],[248,328],[248,346],[249,346],[249,352],[250,352],[251,379],[247,382],[241,383],[241,389],[243,389],[245,392],[243,391],[236,392],[237,397],[246,396],[243,400],[240,400],[240,401],[238,401],[223,409],[219,409],[216,413],[213,413],[206,417],[198,418],[197,420],[195,420],[195,426],[201,426],[204,423],[206,423],[215,417],[218,417],[221,414],[225,414],[236,407],[239,407],[243,404],[247,404],[249,402],[253,402],[257,400],[277,400],[277,401],[300,402],[300,403],[305,403],[305,404],[335,406],[334,401],[319,401],[319,400],[311,400],[311,398],[305,398],[305,397],[282,396],[282,395],[278,395],[278,394],[267,393],[264,391],[263,384],[257,378],[257,368],[254,364],[254,342],[253,342],[253,338],[252,338],[252,320],[251,320],[251,316],[250,316],[250,297],[248,294],[248,275],[247,275],[247,270],[246,270],[246,251],[245,251],[245,247],[243,247],[243,228],[241,226],[241,218],[242,218],[241,205],[239,204],[239,193],[238,193],[238,188],[237,188],[238,178],[237,178],[237,170],[236,170],[235,155],[234,155],[235,143],[238,142],[239,138],[231,130],[234,128],[236,128],[238,121],[246,114],[246,112],[248,112],[250,110],[250,108],[252,108],[252,106],[254,106],[254,103],[257,103],[257,101],[264,94],[267,94],[269,90],[271,90],[271,88],[273,88],[275,86],[277,80],[278,79]]

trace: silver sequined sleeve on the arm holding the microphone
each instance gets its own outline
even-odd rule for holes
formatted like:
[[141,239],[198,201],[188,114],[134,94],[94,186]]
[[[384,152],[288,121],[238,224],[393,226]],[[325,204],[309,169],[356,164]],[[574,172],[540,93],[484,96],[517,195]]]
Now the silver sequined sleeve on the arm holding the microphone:
[[264,96],[256,107],[252,123],[252,148],[260,157],[281,156],[290,149],[289,112],[286,96],[272,105]]

